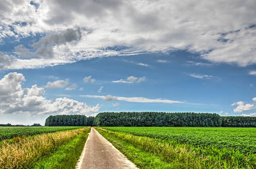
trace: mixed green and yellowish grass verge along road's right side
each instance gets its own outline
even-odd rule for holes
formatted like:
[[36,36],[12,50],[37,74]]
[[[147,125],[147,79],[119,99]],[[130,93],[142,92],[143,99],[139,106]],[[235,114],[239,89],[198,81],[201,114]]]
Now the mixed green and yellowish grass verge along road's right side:
[[97,131],[140,168],[256,168],[254,154],[233,149],[196,147],[100,128]]

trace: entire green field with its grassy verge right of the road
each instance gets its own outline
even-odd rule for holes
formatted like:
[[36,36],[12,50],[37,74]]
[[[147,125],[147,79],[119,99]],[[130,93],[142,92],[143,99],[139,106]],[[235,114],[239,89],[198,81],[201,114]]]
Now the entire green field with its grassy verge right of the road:
[[139,168],[256,168],[255,128],[97,130]]

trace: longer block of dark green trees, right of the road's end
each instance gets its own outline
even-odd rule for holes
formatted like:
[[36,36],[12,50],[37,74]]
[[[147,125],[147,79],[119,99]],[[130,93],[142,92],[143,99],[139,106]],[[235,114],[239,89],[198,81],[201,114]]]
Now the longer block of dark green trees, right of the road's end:
[[95,126],[166,127],[256,127],[256,117],[164,112],[105,112],[95,117]]

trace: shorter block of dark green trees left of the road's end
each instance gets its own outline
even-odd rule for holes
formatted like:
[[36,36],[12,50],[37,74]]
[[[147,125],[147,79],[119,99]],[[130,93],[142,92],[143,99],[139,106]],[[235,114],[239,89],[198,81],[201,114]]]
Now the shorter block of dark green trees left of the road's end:
[[85,115],[50,115],[45,126],[87,126]]

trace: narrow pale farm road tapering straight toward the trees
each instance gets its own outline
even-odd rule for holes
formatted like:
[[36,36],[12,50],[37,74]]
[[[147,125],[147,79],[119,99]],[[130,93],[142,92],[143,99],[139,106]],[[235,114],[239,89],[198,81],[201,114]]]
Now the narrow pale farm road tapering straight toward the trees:
[[122,169],[136,168],[106,138],[92,128],[81,155],[78,169]]

